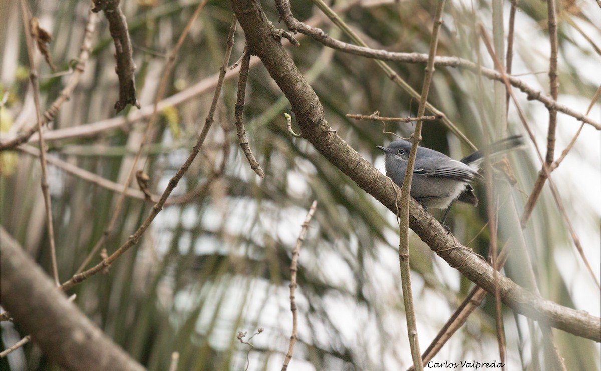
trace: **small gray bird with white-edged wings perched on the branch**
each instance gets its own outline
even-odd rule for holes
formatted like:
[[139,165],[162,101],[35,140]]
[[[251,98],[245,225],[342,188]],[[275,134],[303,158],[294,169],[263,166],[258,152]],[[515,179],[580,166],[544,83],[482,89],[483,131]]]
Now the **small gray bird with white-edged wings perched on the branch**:
[[[493,143],[489,153],[491,157],[495,157],[520,146],[523,146],[522,136],[512,136]],[[411,143],[397,140],[390,143],[388,148],[377,148],[386,153],[386,176],[397,186],[403,186]],[[482,151],[476,151],[456,161],[433,149],[418,147],[410,195],[424,208],[447,208],[441,222],[444,225],[453,202],[478,205],[478,198],[474,195],[470,183],[474,179],[482,178],[478,170],[483,160]]]

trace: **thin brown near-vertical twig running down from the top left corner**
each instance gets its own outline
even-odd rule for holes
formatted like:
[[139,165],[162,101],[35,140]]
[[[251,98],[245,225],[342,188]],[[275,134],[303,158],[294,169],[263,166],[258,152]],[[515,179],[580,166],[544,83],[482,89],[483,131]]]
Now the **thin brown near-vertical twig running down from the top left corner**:
[[[25,28],[25,43],[27,45],[27,57],[29,59],[29,81],[34,95],[35,118],[37,130],[41,137],[41,115],[40,115],[40,87],[38,86],[37,71],[35,70],[34,46],[29,29],[28,9],[25,0],[20,1],[23,27]],[[56,248],[54,245],[54,226],[52,225],[52,204],[50,204],[50,192],[48,191],[48,169],[46,167],[46,143],[40,140],[40,167],[41,167],[41,193],[44,195],[44,208],[46,210],[46,224],[48,229],[48,243],[50,245],[50,261],[52,262],[52,277],[56,286],[60,285],[58,280],[58,265],[56,264]]]

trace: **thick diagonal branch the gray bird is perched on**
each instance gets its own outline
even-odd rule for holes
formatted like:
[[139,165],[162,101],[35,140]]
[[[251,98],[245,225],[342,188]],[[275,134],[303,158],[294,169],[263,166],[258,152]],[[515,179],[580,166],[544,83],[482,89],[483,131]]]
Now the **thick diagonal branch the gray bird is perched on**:
[[[234,0],[233,8],[245,31],[246,41],[290,101],[302,137],[361,189],[370,190],[371,196],[395,213],[396,195],[397,192],[400,194],[400,190],[385,176],[378,176],[377,169],[331,130],[317,95],[282,47],[278,32],[265,17],[260,4],[250,0]],[[490,265],[475,259],[468,249],[461,249],[462,246],[453,241],[453,236],[447,235],[441,225],[413,200],[410,200],[409,214],[409,227],[430,249],[451,266],[459,267],[457,270],[476,285],[494,292]],[[576,336],[601,342],[601,318],[545,300],[501,275],[499,292],[503,302],[522,315]]]

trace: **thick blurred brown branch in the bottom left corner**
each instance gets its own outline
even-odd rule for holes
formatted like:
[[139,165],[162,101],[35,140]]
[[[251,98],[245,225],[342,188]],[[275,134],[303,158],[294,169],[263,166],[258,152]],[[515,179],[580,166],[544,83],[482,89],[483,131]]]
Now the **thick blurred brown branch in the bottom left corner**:
[[0,227],[0,304],[67,370],[144,370],[105,336]]

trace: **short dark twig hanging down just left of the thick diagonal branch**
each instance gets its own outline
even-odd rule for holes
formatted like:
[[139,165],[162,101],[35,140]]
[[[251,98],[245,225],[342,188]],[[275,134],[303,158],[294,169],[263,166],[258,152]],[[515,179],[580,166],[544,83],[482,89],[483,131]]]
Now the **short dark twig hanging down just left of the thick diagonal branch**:
[[[233,40],[232,40],[233,42]],[[240,65],[240,79],[238,80],[238,97],[236,101],[236,134],[240,140],[240,148],[246,156],[246,160],[251,165],[251,169],[257,173],[259,178],[265,178],[265,173],[261,169],[261,165],[257,158],[252,154],[251,146],[246,139],[246,129],[244,128],[244,101],[246,98],[246,82],[248,81],[248,66],[251,62],[251,52],[248,45],[244,47],[242,64]]]

